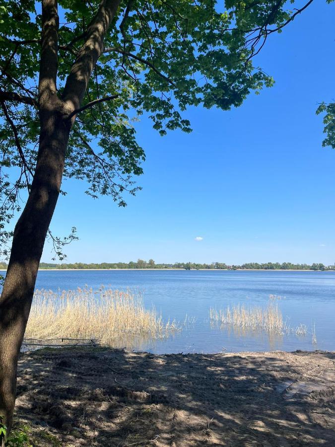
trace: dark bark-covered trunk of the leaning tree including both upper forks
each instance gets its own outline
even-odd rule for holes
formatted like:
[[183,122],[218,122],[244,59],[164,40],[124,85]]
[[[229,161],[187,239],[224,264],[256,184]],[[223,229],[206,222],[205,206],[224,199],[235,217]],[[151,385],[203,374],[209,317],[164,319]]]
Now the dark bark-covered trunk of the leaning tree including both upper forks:
[[[0,297],[0,423],[12,425],[17,359],[33,299],[38,266],[60,193],[68,137],[103,39],[120,0],[103,0],[87,30],[87,39],[68,75],[64,96],[57,95],[58,6],[42,0],[39,74],[40,142],[30,194],[15,226],[6,278]],[[1,445],[1,440],[0,440]],[[4,440],[2,440],[4,445]]]

